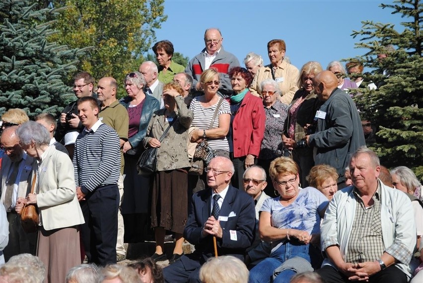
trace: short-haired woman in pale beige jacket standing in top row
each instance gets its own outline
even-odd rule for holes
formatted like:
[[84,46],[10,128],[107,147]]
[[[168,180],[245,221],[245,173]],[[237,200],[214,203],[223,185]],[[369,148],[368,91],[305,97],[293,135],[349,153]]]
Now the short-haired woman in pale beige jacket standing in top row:
[[281,90],[281,101],[289,104],[298,89],[298,69],[284,60],[286,45],[282,39],[269,41],[267,49],[271,64],[259,68],[251,84],[251,93],[260,96],[260,83],[265,79],[273,79]]

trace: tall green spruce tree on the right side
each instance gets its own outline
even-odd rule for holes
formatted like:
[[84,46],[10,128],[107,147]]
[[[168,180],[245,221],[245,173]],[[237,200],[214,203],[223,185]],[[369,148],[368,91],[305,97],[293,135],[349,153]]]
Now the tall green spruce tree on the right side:
[[[354,97],[362,117],[379,127],[372,149],[388,168],[404,165],[423,177],[423,4],[420,0],[397,0],[380,4],[407,21],[403,31],[393,24],[363,21],[356,48],[369,51],[358,59],[373,71],[364,81],[379,84],[376,90],[359,89]],[[386,55],[378,59],[380,54]],[[383,57],[383,56],[382,56]],[[363,119],[363,118],[362,118]]]

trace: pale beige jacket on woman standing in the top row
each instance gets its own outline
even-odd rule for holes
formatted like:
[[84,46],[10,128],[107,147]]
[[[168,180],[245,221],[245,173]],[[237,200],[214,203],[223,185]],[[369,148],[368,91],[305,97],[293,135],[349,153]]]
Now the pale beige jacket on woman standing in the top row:
[[[253,82],[250,86],[250,92],[255,96],[261,96],[259,93],[260,91],[260,83],[265,79],[272,79],[272,65],[266,65],[264,67],[260,67],[259,71],[255,75]],[[290,104],[292,98],[294,97],[295,92],[298,90],[297,82],[298,82],[298,69],[285,62],[282,61],[282,64],[278,66],[278,69],[275,72],[275,78],[278,81],[279,88],[282,91],[282,97],[280,100],[282,103]]]

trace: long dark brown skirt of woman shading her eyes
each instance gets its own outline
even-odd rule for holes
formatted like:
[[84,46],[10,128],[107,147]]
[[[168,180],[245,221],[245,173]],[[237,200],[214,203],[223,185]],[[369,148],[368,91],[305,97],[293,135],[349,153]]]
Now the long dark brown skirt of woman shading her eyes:
[[182,170],[158,171],[153,176],[151,227],[182,234],[188,217],[188,175]]

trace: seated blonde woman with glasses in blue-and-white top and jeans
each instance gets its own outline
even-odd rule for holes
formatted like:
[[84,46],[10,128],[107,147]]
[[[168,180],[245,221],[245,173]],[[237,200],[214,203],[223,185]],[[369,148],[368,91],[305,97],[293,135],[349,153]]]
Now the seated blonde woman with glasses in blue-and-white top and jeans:
[[259,232],[272,242],[272,252],[250,271],[250,283],[271,282],[272,276],[274,283],[288,283],[296,273],[313,271],[320,261],[320,252],[310,241],[320,234],[328,199],[315,188],[300,189],[298,166],[289,157],[272,161],[270,176],[280,196],[265,200]]

